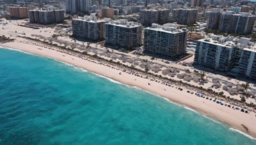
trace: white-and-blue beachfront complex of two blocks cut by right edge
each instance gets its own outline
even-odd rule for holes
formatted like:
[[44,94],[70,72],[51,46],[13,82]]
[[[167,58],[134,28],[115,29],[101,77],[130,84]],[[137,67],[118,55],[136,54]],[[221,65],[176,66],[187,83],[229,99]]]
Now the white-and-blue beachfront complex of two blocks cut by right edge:
[[218,71],[237,66],[239,74],[256,79],[256,44],[249,38],[205,36],[196,43],[194,63]]

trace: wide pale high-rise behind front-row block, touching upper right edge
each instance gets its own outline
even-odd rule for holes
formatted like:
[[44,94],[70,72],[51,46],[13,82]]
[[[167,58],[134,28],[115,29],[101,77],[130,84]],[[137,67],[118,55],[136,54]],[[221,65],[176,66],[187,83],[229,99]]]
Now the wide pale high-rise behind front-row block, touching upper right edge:
[[252,33],[255,15],[249,13],[233,14],[232,11],[222,13],[220,17],[220,32],[235,32],[237,34]]

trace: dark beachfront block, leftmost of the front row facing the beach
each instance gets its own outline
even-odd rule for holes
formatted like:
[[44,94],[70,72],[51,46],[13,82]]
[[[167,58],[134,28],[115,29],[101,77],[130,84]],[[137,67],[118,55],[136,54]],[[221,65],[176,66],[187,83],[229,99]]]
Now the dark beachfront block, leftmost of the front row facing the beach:
[[[109,20],[108,20],[109,19]],[[110,18],[97,19],[95,13],[72,20],[72,31],[75,38],[91,39],[93,41],[102,40],[105,36],[104,24]]]

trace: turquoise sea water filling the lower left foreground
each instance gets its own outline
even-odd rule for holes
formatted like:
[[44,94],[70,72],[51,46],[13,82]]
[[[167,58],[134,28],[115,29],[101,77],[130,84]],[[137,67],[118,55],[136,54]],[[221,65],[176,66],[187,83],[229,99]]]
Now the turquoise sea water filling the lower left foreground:
[[256,144],[161,97],[52,59],[0,49],[0,68],[0,144]]

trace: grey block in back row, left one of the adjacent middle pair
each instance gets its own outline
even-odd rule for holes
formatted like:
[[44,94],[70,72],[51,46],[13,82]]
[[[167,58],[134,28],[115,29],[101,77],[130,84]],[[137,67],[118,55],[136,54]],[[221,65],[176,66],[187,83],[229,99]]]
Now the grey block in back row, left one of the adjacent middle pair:
[[168,23],[170,10],[140,10],[140,23],[144,26],[150,26],[153,23]]

